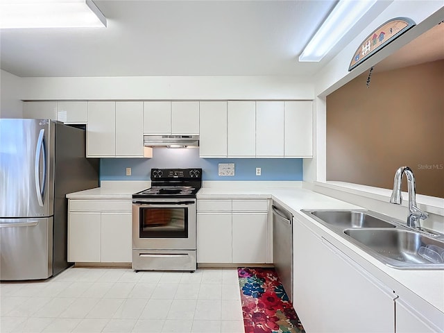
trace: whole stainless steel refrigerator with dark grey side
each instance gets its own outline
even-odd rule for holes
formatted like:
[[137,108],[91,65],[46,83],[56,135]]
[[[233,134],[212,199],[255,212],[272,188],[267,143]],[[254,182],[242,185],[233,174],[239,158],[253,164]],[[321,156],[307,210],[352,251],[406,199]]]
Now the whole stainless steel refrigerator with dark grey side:
[[0,119],[0,280],[39,280],[67,262],[66,194],[99,186],[85,130]]

